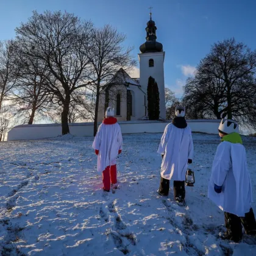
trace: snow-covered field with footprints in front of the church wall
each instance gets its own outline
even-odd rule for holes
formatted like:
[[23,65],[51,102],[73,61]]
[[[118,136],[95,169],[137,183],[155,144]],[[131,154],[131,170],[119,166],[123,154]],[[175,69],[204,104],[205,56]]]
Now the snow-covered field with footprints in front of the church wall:
[[[125,135],[119,185],[103,192],[93,138],[1,143],[2,255],[256,255],[218,238],[224,214],[207,198],[217,135],[193,134],[195,187],[186,207],[156,191],[161,134]],[[256,140],[243,138],[256,201]],[[256,204],[253,205],[256,213]]]

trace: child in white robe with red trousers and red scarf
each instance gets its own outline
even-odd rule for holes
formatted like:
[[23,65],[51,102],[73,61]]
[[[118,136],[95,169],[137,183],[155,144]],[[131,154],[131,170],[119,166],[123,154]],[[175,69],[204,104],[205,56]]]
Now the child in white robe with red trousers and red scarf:
[[93,149],[98,155],[97,169],[102,172],[103,190],[109,192],[110,185],[116,184],[116,157],[121,154],[123,137],[121,128],[114,117],[114,109],[108,107],[102,124],[93,141]]

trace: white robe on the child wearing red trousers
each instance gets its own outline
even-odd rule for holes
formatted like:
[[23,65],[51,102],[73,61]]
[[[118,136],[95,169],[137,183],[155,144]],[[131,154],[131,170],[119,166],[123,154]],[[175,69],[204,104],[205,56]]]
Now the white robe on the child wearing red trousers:
[[93,141],[93,149],[99,151],[97,169],[105,170],[107,166],[116,165],[118,151],[122,150],[123,137],[118,123],[101,124]]

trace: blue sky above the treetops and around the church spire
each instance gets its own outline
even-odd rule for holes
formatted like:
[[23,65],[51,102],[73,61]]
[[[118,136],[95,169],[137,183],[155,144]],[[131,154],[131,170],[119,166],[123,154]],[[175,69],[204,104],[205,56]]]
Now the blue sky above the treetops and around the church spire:
[[165,84],[182,94],[182,85],[213,43],[235,37],[251,49],[256,44],[254,0],[0,0],[0,40],[15,37],[15,27],[32,10],[66,10],[96,26],[111,24],[127,36],[137,59],[145,41],[149,7],[157,40],[165,51]]

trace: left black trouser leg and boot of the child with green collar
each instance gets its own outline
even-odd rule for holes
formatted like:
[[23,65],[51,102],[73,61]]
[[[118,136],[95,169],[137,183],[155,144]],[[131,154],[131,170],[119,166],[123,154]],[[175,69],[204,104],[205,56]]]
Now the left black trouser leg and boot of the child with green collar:
[[222,239],[232,240],[238,243],[242,238],[242,225],[240,217],[233,215],[232,213],[224,212],[226,233],[222,236]]

